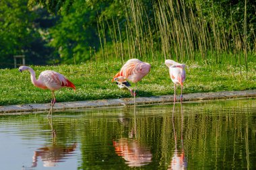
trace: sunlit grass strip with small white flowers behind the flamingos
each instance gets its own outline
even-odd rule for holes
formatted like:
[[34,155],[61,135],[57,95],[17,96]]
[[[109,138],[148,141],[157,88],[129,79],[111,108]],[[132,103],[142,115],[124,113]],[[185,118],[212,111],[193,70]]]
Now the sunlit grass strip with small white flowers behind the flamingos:
[[[102,63],[95,62],[82,65],[61,65],[56,67],[32,67],[39,73],[51,69],[62,73],[77,87],[61,89],[56,92],[57,101],[78,101],[89,99],[110,99],[131,97],[128,91],[120,90],[111,83],[112,77],[121,68],[121,62]],[[228,91],[256,88],[256,67],[249,63],[248,79],[245,78],[245,67],[242,67],[242,77],[239,67],[222,66],[213,67],[199,63],[187,63],[187,79],[184,93],[203,91]],[[0,70],[0,104],[9,105],[17,103],[48,103],[51,101],[50,91],[34,87],[30,81],[29,73],[20,73],[18,69]],[[173,94],[173,84],[165,65],[152,64],[150,74],[138,83],[138,96]],[[179,89],[179,88],[178,88]],[[179,93],[179,91],[178,91]]]

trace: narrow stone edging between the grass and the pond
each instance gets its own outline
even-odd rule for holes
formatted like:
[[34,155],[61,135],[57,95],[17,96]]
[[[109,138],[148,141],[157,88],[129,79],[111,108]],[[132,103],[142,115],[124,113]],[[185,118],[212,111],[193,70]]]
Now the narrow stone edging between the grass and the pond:
[[[235,98],[251,98],[256,97],[256,89],[246,91],[220,91],[207,93],[188,93],[183,94],[183,101],[203,101],[210,99],[235,99]],[[177,95],[177,101],[180,101]],[[105,108],[120,107],[125,105],[133,105],[133,97],[121,99],[99,99],[94,101],[69,101],[55,103],[54,112],[66,110],[81,110],[88,108]],[[172,103],[173,95],[159,95],[152,97],[136,97],[137,105]],[[43,113],[48,112],[51,108],[50,103],[30,103],[23,105],[2,105],[0,106],[1,115],[22,115],[32,112]]]

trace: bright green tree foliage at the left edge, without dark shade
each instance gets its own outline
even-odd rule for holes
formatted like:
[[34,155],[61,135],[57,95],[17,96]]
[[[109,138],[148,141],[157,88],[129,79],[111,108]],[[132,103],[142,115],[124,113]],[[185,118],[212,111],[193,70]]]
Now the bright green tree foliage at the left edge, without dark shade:
[[[26,1],[0,1],[0,61],[12,61],[13,54],[20,54],[31,41],[34,15],[26,7]],[[3,57],[5,56],[5,57]]]

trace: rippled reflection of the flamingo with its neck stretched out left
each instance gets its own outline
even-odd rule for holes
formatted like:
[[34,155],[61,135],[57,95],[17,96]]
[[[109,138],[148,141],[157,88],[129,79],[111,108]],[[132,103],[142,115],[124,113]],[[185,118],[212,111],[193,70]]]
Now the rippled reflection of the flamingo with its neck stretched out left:
[[50,146],[44,146],[34,151],[32,167],[36,167],[38,158],[41,159],[44,167],[55,167],[57,163],[63,162],[67,155],[75,151],[77,143],[74,142],[69,146],[63,146],[55,143],[56,133],[53,129],[53,122],[49,120],[49,124],[52,130],[53,143]]

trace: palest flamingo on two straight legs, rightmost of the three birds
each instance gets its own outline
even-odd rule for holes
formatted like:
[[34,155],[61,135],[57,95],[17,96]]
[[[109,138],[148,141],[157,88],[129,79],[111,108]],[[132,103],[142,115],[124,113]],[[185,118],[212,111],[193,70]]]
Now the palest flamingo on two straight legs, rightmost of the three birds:
[[183,100],[182,90],[183,82],[186,79],[185,64],[175,62],[174,60],[165,60],[165,65],[169,68],[170,79],[174,83],[174,103],[176,101],[176,85],[181,85],[181,101]]

